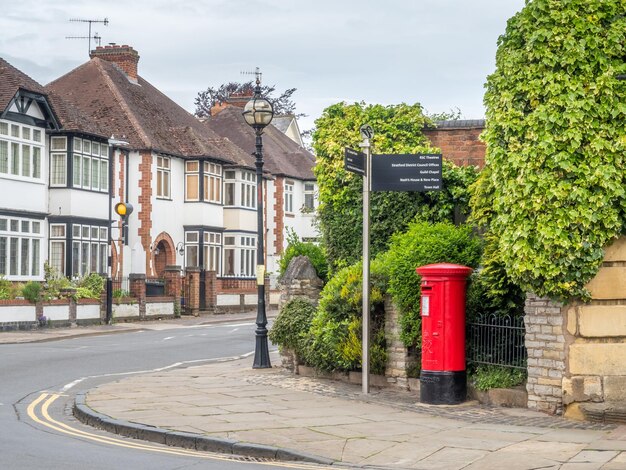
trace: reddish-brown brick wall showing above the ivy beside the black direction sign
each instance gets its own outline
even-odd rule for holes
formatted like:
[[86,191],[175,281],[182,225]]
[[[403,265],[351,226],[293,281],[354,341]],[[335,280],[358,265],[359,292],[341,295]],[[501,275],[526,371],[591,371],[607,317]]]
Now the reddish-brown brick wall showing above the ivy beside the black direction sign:
[[479,137],[484,129],[484,121],[444,121],[436,129],[424,129],[424,135],[434,147],[439,147],[443,158],[456,165],[485,164],[485,144]]

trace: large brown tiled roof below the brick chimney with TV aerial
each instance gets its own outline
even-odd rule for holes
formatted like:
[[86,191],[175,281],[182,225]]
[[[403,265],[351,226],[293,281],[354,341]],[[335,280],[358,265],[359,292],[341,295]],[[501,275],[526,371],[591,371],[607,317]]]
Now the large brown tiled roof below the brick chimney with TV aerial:
[[224,162],[250,157],[141,77],[137,81],[114,63],[94,57],[46,85],[129,147],[174,156],[212,157]]

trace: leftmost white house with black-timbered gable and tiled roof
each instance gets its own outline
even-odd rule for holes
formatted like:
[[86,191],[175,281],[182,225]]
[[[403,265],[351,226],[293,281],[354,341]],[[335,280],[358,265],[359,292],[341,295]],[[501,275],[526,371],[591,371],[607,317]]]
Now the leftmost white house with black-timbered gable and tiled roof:
[[[67,275],[106,270],[106,134],[2,59],[0,77],[0,275],[42,280],[46,260]],[[73,141],[93,171],[72,172]]]

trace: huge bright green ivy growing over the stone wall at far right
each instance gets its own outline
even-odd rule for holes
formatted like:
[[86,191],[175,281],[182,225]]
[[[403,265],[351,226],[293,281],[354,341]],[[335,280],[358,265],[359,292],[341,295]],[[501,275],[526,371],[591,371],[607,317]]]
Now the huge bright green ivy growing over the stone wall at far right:
[[471,205],[487,268],[542,296],[587,298],[624,230],[625,13],[624,0],[527,0],[498,41]]

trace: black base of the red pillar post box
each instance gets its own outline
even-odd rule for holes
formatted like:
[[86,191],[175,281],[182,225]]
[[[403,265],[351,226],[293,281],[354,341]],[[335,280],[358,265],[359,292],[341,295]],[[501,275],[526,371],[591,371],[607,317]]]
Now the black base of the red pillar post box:
[[466,371],[429,371],[420,374],[420,402],[458,405],[467,398]]

